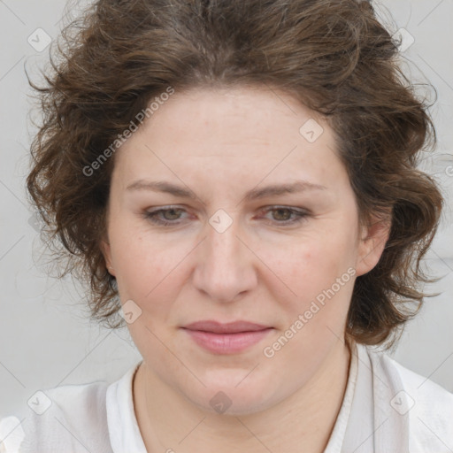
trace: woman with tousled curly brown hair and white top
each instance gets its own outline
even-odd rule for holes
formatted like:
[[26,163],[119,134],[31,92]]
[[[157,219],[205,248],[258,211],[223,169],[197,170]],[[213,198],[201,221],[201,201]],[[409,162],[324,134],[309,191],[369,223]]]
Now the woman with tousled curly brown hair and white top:
[[19,451],[453,450],[453,395],[372,349],[428,296],[442,206],[372,6],[99,0],[74,29],[27,188],[143,359],[43,392]]

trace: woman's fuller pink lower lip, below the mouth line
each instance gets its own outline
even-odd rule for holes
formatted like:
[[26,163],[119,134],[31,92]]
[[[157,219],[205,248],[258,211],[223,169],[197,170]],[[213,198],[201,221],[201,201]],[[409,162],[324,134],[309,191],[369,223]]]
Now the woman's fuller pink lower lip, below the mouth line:
[[190,337],[204,349],[217,354],[234,354],[250,348],[260,342],[273,328],[254,332],[238,332],[236,334],[214,334],[201,330],[184,329]]

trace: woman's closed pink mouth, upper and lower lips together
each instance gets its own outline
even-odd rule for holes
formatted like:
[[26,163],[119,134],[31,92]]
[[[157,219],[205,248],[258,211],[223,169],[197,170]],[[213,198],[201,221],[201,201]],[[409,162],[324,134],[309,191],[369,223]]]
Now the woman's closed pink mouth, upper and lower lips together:
[[215,354],[236,354],[257,344],[272,330],[272,326],[235,321],[197,321],[181,327],[201,348]]

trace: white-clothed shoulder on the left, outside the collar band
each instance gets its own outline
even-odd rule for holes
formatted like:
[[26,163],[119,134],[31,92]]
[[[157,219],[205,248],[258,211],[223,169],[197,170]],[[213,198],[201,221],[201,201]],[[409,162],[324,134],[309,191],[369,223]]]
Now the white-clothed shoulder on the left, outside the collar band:
[[23,437],[19,452],[111,453],[105,407],[107,387],[106,382],[96,381],[36,392],[28,400],[25,418],[17,428]]

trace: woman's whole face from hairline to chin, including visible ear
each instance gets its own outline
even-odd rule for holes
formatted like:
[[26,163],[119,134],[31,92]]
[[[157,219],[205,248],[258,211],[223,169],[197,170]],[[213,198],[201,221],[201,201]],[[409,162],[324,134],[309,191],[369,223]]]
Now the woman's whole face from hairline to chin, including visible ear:
[[[194,89],[115,159],[104,257],[147,372],[207,411],[223,391],[237,414],[308,385],[388,233],[358,227],[332,130],[284,93]],[[188,328],[208,320],[259,326]]]

